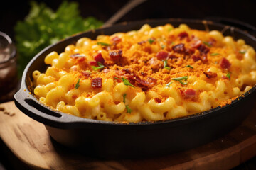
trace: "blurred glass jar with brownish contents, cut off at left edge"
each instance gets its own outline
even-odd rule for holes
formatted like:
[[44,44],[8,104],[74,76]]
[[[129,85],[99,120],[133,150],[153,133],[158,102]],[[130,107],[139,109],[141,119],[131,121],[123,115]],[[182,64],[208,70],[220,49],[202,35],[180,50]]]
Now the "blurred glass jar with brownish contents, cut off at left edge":
[[16,47],[0,32],[0,103],[11,101],[18,88]]

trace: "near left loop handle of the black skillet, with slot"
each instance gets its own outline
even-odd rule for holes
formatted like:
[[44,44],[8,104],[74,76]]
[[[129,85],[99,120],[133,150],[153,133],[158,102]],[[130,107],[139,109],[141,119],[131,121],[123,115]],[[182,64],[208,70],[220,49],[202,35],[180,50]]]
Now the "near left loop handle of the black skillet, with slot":
[[40,123],[56,128],[65,128],[68,125],[66,115],[42,106],[36,98],[28,93],[27,89],[24,90],[21,87],[14,95],[14,102],[18,109]]

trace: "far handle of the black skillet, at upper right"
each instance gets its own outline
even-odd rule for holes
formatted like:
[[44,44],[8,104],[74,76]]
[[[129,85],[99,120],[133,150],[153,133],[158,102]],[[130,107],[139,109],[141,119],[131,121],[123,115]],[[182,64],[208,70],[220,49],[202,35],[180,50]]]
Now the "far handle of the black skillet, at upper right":
[[249,23],[238,21],[232,18],[220,18],[220,17],[208,17],[206,18],[206,20],[215,21],[216,23],[222,23],[229,26],[235,26],[242,30],[247,30],[248,33],[256,37],[256,27],[250,25]]

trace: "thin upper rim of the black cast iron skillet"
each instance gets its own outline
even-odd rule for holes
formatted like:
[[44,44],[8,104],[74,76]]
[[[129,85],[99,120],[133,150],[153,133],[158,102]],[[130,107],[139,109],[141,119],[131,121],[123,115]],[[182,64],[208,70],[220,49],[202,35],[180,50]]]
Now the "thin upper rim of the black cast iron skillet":
[[[171,23],[172,21],[182,21],[183,23],[186,23],[187,25],[189,23],[202,23],[202,24],[212,24],[212,25],[215,25],[215,26],[221,26],[221,27],[225,27],[225,25],[221,24],[221,23],[215,23],[213,21],[206,21],[206,20],[198,20],[198,19],[187,19],[187,18],[161,18],[159,20],[156,20],[156,19],[146,19],[146,20],[142,20],[142,21],[131,21],[131,22],[123,22],[123,23],[117,23],[117,24],[114,24],[112,26],[107,26],[107,27],[103,27],[103,28],[99,28],[97,29],[97,31],[101,31],[101,30],[105,30],[106,28],[112,28],[112,27],[115,27],[115,26],[122,26],[122,25],[128,25],[128,24],[131,24],[131,23],[145,23],[145,22],[149,22],[149,25],[150,25],[150,22],[165,22],[165,23]],[[235,31],[238,31],[239,33],[242,33],[243,35],[251,38],[252,40],[254,40],[256,42],[256,38],[252,35],[250,35],[249,33],[246,33],[244,30],[240,30],[239,28],[235,28],[233,26],[230,26],[232,28],[235,29]],[[96,30],[89,30],[89,31],[85,31],[85,32],[82,32],[82,33],[78,33],[78,34],[75,34],[75,35],[72,35],[68,38],[65,38],[64,40],[60,40],[59,42],[56,42],[55,44],[53,45],[50,45],[46,48],[44,48],[43,50],[41,50],[41,52],[39,52],[35,57],[33,57],[33,59],[27,64],[26,66],[26,69],[24,69],[24,72],[23,72],[23,76],[22,76],[22,80],[21,80],[21,90],[24,90],[26,89],[27,91],[28,90],[28,86],[26,84],[26,76],[27,76],[27,72],[28,72],[28,69],[31,67],[31,64],[33,64],[33,62],[43,54],[43,52],[45,52],[46,50],[49,50],[50,48],[54,47],[55,45],[59,45],[60,43],[62,43],[63,41],[68,41],[68,40],[71,40],[73,38],[78,38],[80,37],[81,35],[84,35],[85,33],[88,33],[88,32],[94,32]],[[159,121],[143,121],[143,122],[139,122],[139,123],[122,123],[122,122],[110,122],[110,121],[104,121],[104,120],[92,120],[92,119],[88,119],[88,118],[80,118],[80,117],[77,117],[75,115],[69,115],[67,113],[62,113],[60,111],[55,111],[53,110],[52,108],[50,108],[49,106],[45,106],[43,103],[40,103],[38,101],[38,99],[33,96],[33,93],[32,94],[29,94],[29,96],[33,96],[33,101],[36,101],[38,104],[40,104],[41,106],[43,106],[44,108],[47,108],[47,109],[50,109],[50,111],[54,111],[56,113],[60,113],[60,115],[63,117],[65,116],[66,118],[71,118],[71,119],[75,119],[74,121],[71,121],[70,124],[84,124],[84,123],[89,123],[89,124],[100,124],[100,125],[122,125],[122,126],[137,126],[137,125],[162,125],[162,124],[166,124],[166,123],[184,123],[184,122],[190,122],[188,120],[198,120],[198,119],[201,119],[201,118],[206,118],[210,115],[213,115],[213,113],[217,113],[217,111],[220,111],[223,110],[225,111],[226,108],[228,107],[232,107],[234,106],[235,104],[239,103],[240,100],[242,100],[243,98],[246,98],[247,96],[255,93],[255,90],[256,90],[256,85],[252,87],[252,89],[250,89],[249,91],[247,91],[245,94],[242,94],[241,96],[239,96],[238,98],[236,98],[235,100],[232,101],[232,103],[228,104],[228,105],[225,105],[223,107],[216,107],[216,108],[212,108],[208,111],[203,111],[201,113],[196,113],[196,114],[192,114],[192,115],[187,115],[185,117],[181,117],[181,118],[174,118],[174,119],[170,119],[170,120],[159,120]],[[30,92],[30,91],[29,91]],[[75,118],[74,118],[75,117]],[[186,120],[186,121],[185,121]]]

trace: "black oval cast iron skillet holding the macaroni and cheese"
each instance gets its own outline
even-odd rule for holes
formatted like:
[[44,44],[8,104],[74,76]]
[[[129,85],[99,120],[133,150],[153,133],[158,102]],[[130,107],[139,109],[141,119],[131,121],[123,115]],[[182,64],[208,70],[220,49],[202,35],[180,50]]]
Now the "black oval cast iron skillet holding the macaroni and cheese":
[[21,89],[14,96],[16,106],[34,120],[45,124],[50,136],[60,144],[83,149],[87,154],[105,158],[144,157],[178,152],[210,142],[238,126],[254,107],[255,86],[244,96],[223,108],[218,107],[196,115],[154,123],[124,124],[78,118],[53,111],[39,103],[33,96],[32,72],[36,69],[41,72],[46,71],[47,65],[43,60],[48,53],[53,50],[58,53],[63,52],[67,45],[75,43],[82,37],[95,39],[100,34],[111,35],[138,30],[144,23],[149,23],[153,27],[166,23],[177,27],[181,23],[186,23],[190,28],[198,30],[225,28],[224,35],[232,35],[235,39],[242,38],[247,44],[256,48],[256,39],[252,35],[238,28],[211,21],[169,18],[121,23],[74,35],[39,52],[23,72]]

